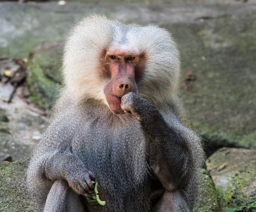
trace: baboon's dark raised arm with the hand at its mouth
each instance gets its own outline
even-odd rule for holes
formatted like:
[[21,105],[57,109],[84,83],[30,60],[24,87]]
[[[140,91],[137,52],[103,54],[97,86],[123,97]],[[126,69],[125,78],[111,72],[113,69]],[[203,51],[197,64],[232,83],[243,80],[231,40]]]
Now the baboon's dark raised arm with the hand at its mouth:
[[[157,108],[136,93],[130,93],[123,100],[124,107],[131,108],[141,123],[145,138],[149,165],[154,175],[168,190],[186,186],[193,169],[192,151],[188,130],[171,108],[167,108],[167,119]],[[131,102],[130,106],[126,106]],[[165,115],[166,116],[166,115]]]

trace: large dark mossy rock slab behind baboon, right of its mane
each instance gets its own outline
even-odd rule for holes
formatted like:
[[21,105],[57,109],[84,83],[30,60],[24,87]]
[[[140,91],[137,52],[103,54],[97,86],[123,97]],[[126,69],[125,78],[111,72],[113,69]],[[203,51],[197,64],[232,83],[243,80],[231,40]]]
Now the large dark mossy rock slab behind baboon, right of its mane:
[[[231,9],[217,7],[224,14]],[[187,82],[190,89],[181,89],[181,97],[208,147],[256,149],[255,25],[255,10],[239,13],[236,8],[195,23],[163,25],[180,50],[181,80],[188,71],[196,76]]]

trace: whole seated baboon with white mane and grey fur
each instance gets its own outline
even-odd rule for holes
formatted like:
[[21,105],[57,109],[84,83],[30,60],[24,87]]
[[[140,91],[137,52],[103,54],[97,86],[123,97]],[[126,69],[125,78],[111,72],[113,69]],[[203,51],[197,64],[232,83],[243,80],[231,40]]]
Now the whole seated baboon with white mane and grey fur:
[[[64,88],[27,170],[36,210],[193,211],[204,153],[182,121],[179,70],[165,29],[96,14],[81,20],[67,37]],[[92,181],[105,206],[88,204]]]

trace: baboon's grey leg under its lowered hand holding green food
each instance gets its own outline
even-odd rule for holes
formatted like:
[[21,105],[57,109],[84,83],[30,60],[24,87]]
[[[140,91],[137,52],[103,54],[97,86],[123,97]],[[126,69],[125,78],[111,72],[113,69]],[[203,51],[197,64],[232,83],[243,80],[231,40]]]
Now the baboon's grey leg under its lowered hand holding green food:
[[81,198],[65,181],[55,181],[47,195],[44,212],[87,212]]

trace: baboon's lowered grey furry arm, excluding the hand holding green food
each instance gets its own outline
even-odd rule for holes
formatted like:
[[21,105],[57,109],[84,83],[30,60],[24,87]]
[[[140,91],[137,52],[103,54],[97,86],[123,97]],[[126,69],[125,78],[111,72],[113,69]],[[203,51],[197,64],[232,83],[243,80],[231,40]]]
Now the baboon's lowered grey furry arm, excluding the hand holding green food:
[[38,141],[29,164],[29,175],[40,172],[50,180],[65,179],[72,168],[82,163],[73,155],[71,139],[75,136],[77,120],[66,111],[56,114]]

